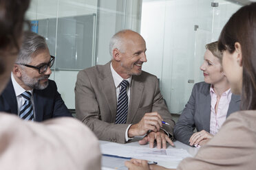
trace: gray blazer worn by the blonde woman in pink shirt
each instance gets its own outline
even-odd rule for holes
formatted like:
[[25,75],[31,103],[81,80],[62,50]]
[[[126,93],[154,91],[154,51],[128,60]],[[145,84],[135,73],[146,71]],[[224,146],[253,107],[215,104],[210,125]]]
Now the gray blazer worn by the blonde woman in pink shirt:
[[[191,97],[174,127],[173,134],[178,141],[189,145],[189,138],[194,133],[195,127],[198,132],[201,130],[210,132],[210,87],[211,84],[206,84],[205,82],[200,82],[193,86]],[[240,101],[239,95],[232,94],[226,117],[239,110]]]

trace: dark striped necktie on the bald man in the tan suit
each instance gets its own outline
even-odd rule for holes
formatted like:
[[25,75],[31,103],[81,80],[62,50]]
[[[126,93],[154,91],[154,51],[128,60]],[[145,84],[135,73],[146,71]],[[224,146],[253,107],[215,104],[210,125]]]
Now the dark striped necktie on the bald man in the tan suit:
[[128,113],[128,96],[127,96],[127,86],[129,82],[127,80],[122,80],[120,83],[121,90],[118,96],[118,104],[116,109],[116,124],[126,123],[127,113]]

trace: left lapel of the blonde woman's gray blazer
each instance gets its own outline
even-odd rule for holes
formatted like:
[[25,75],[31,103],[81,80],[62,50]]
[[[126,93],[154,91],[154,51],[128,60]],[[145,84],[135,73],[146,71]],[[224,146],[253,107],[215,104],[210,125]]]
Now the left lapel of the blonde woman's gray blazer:
[[202,113],[201,121],[203,129],[206,132],[210,132],[210,119],[211,119],[211,95],[210,95],[210,84],[205,84],[200,92],[200,112]]

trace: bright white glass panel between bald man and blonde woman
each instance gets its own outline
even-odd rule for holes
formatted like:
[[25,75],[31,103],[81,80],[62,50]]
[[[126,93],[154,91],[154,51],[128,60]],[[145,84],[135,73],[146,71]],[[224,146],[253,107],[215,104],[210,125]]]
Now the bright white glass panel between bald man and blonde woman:
[[171,113],[180,114],[193,85],[204,81],[205,45],[241,6],[213,0],[143,0],[140,33],[147,42],[145,71],[160,79]]

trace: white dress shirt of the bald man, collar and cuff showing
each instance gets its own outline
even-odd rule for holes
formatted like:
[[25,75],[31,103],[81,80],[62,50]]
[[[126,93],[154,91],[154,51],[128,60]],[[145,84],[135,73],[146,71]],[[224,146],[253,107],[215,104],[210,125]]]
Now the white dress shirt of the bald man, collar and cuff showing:
[[[112,77],[114,79],[114,84],[115,84],[115,87],[116,87],[116,104],[117,104],[118,96],[119,96],[119,93],[120,93],[120,90],[121,90],[120,83],[124,79],[120,75],[118,75],[118,73],[116,73],[116,71],[113,69],[112,62],[110,64],[110,70],[111,70]],[[127,86],[128,107],[129,107],[130,92],[131,92],[131,78],[132,78],[132,76],[129,77],[128,79],[125,79],[129,82],[129,86]],[[129,139],[131,139],[131,138],[128,137],[128,130],[129,130],[130,127],[131,127],[131,124],[127,127],[127,129],[125,131],[125,141],[128,141]]]

